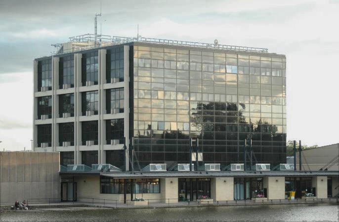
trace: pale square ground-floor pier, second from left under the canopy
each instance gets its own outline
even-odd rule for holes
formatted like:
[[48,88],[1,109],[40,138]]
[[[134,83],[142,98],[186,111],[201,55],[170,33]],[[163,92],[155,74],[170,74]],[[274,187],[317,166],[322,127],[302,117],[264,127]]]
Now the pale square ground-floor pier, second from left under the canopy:
[[234,200],[234,178],[211,178],[211,198],[214,201]]

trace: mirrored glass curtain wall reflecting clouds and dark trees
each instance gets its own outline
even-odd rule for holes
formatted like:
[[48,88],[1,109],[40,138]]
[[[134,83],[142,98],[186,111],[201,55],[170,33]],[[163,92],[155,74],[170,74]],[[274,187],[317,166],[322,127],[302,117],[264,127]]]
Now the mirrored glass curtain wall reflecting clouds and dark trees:
[[133,136],[142,166],[187,163],[199,138],[205,163],[286,162],[286,60],[134,46]]

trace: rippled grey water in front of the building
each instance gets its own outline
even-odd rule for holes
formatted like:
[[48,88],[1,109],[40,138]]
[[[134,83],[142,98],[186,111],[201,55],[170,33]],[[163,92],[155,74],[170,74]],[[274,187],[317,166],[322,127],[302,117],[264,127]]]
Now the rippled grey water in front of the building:
[[0,214],[0,221],[336,221],[338,204],[287,204],[81,211],[18,211]]

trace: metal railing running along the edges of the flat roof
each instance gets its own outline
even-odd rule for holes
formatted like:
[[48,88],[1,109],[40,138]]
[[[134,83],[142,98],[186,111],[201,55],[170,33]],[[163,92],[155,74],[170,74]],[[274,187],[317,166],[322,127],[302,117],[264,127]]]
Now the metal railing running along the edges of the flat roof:
[[[103,36],[93,34],[86,34],[76,37],[70,37],[70,42],[94,42],[94,44],[72,47],[71,49],[63,49],[62,51],[51,52],[51,55],[64,54],[69,52],[77,52],[82,50],[88,50],[93,48],[125,44],[131,42],[143,42],[143,43],[153,43],[153,44],[165,44],[165,45],[175,45],[175,46],[189,46],[189,47],[200,47],[200,48],[209,48],[209,49],[223,49],[223,50],[233,50],[233,51],[246,51],[246,52],[259,52],[259,53],[268,53],[267,48],[256,48],[248,46],[238,46],[238,45],[221,45],[221,44],[210,44],[203,42],[194,42],[194,41],[181,41],[181,40],[171,40],[171,39],[161,39],[161,38],[148,38],[148,37],[119,37],[119,36]],[[95,41],[95,39],[99,39]],[[103,41],[101,41],[101,40]]]

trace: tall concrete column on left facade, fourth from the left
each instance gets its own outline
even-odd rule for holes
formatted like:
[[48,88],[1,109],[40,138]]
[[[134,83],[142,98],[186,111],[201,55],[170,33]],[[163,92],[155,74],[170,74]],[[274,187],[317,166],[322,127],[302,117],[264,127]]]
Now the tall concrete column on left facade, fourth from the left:
[[98,115],[98,163],[104,163],[104,145],[106,144],[106,131],[104,129],[105,120],[104,114],[106,114],[106,99],[105,99],[105,90],[103,88],[103,84],[106,79],[106,49],[100,49],[98,52],[99,59],[99,76],[98,76],[98,84],[99,84],[99,115]]

